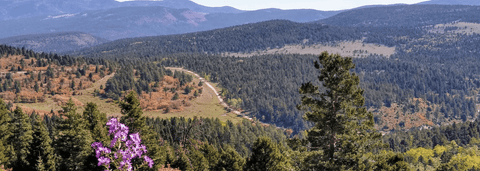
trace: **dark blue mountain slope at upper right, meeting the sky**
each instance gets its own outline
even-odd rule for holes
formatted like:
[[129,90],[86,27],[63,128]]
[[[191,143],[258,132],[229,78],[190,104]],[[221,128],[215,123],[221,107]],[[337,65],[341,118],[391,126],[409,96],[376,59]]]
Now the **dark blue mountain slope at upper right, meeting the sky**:
[[415,27],[454,21],[480,22],[480,8],[466,5],[383,6],[349,10],[316,23],[337,26]]

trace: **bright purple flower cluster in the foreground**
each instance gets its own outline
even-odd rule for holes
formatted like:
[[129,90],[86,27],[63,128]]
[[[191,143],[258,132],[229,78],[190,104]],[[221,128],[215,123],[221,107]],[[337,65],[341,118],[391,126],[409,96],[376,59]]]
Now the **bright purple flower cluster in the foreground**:
[[[110,164],[114,164],[119,170],[130,171],[133,170],[132,159],[138,157],[143,158],[152,168],[153,160],[146,155],[142,157],[143,154],[147,153],[147,148],[141,144],[142,140],[138,133],[128,135],[128,127],[118,122],[116,118],[110,119],[107,126],[109,126],[108,134],[113,135],[110,148],[104,147],[101,142],[92,143],[92,148],[95,149],[98,159],[98,166],[104,165],[110,168]],[[111,149],[115,148],[117,151],[112,153]]]

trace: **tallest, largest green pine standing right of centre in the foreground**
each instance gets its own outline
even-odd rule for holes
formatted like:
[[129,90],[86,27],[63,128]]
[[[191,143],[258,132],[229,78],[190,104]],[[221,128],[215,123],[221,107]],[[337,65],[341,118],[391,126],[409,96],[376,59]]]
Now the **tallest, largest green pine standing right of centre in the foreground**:
[[323,52],[315,68],[320,70],[318,80],[327,90],[321,92],[311,82],[302,84],[302,104],[297,106],[306,111],[307,121],[315,123],[307,134],[312,149],[323,151],[319,162],[313,164],[321,170],[357,170],[368,162],[362,156],[379,145],[376,140],[381,135],[375,131],[373,114],[363,107],[360,79],[350,74],[355,64],[351,58]]

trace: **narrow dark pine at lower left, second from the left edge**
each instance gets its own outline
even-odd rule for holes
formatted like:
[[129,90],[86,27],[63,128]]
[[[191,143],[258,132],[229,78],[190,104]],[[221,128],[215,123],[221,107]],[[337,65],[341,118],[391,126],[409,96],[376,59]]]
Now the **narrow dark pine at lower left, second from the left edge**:
[[28,115],[23,113],[20,107],[13,111],[11,126],[14,131],[9,141],[13,143],[15,154],[12,156],[12,162],[7,167],[13,170],[31,170],[34,165],[29,163],[27,157],[30,154],[30,145],[33,141],[32,124]]

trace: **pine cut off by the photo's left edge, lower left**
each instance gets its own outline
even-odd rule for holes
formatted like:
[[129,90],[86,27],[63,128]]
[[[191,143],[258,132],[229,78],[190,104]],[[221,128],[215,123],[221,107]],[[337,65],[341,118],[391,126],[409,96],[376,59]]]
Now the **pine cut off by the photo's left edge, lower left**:
[[9,141],[13,135],[12,117],[7,109],[7,104],[0,99],[0,166],[7,165],[10,156],[13,156],[13,142]]

